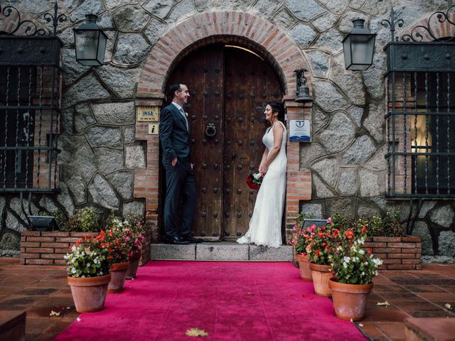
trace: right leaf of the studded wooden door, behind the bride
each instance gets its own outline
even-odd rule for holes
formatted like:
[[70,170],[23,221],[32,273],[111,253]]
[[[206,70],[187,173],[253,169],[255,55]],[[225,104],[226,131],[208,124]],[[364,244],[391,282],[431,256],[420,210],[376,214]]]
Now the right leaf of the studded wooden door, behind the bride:
[[258,171],[267,128],[264,107],[271,100],[282,100],[272,68],[257,55],[226,48],[223,230],[227,239],[244,235],[249,227],[257,191],[248,188],[245,178]]

